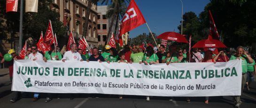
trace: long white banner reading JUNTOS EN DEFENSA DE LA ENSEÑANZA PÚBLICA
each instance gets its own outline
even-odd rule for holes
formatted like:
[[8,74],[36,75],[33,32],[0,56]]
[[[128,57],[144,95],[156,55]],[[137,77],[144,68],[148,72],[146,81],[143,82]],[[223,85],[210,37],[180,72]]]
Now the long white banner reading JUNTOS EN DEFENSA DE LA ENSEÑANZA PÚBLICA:
[[149,96],[241,94],[241,61],[144,65],[80,61],[14,63],[12,91]]

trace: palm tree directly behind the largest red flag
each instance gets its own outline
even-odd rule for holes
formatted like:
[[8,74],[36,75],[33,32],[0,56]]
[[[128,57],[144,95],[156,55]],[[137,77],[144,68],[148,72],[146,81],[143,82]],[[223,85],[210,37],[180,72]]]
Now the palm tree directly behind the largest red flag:
[[[104,2],[107,5],[109,0],[103,0],[101,2],[101,4],[103,4]],[[109,35],[110,35],[111,30],[112,30],[115,19],[116,19],[116,25],[115,25],[115,34],[116,34],[116,29],[118,27],[118,21],[120,20],[120,18],[122,16],[124,16],[124,13],[125,13],[126,8],[127,8],[126,3],[129,3],[129,2],[130,2],[130,0],[111,0],[110,1],[110,5],[108,7],[109,10],[107,11],[107,17],[111,18],[111,23],[110,23],[110,26],[109,26],[109,31],[108,31],[108,34],[107,34],[107,40],[105,41],[105,45],[107,45],[107,43],[108,43]]]

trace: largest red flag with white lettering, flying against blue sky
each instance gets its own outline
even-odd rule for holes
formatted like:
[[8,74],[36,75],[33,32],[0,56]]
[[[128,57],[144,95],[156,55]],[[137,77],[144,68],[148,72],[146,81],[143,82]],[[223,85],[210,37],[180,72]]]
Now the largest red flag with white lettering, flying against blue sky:
[[122,34],[146,23],[146,20],[144,19],[134,0],[131,0],[129,6],[127,7],[121,23],[119,37],[121,37]]

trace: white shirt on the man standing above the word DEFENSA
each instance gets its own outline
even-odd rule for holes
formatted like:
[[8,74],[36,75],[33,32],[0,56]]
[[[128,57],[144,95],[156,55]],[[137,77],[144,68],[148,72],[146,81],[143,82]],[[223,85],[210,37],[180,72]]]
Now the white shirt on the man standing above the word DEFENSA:
[[80,61],[82,59],[81,55],[78,52],[72,53],[71,51],[67,51],[63,55],[63,59],[66,59],[67,61]]

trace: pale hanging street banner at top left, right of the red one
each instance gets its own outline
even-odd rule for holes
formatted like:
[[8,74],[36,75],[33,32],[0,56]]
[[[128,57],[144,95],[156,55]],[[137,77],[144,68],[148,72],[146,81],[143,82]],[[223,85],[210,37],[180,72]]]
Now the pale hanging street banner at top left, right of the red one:
[[26,0],[26,12],[38,12],[38,0]]

